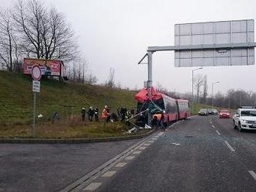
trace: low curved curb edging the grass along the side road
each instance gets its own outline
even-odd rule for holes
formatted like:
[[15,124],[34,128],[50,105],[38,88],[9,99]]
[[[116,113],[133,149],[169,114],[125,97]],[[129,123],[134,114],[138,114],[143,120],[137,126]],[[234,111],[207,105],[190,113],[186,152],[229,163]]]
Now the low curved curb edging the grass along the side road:
[[118,136],[118,137],[104,137],[104,138],[74,138],[74,139],[0,139],[0,143],[40,143],[40,144],[49,144],[49,143],[88,143],[88,142],[116,142],[130,139],[141,139],[148,135],[151,135],[155,132],[156,129],[151,130],[150,132],[140,134],[140,135],[131,135],[131,136]]

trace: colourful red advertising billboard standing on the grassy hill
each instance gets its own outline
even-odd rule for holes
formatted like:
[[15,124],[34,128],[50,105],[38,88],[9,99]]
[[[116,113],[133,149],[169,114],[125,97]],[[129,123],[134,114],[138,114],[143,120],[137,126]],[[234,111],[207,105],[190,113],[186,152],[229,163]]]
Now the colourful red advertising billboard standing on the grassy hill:
[[40,67],[42,75],[61,76],[61,60],[24,59],[23,74],[31,74],[34,64]]

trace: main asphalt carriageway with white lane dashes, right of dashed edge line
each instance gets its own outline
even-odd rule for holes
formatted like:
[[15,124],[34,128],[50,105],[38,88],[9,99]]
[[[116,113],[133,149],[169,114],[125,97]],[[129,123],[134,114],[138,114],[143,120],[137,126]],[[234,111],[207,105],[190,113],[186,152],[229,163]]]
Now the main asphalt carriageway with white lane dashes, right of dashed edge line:
[[[150,139],[83,191],[256,191],[256,133],[194,117]],[[146,143],[146,144],[147,144]]]

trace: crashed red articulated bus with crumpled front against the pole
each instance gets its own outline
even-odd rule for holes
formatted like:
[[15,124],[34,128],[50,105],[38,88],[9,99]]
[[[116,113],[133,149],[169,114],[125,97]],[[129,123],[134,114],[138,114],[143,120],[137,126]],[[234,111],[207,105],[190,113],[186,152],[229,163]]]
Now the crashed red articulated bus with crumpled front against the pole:
[[[190,116],[189,101],[183,99],[171,98],[165,94],[161,94],[151,87],[152,101],[156,104],[164,113],[164,122],[173,122],[179,119],[186,119]],[[144,111],[145,103],[148,101],[147,88],[144,87],[136,95],[137,100],[137,112]],[[158,116],[158,118],[160,115]],[[159,120],[159,119],[158,119]]]

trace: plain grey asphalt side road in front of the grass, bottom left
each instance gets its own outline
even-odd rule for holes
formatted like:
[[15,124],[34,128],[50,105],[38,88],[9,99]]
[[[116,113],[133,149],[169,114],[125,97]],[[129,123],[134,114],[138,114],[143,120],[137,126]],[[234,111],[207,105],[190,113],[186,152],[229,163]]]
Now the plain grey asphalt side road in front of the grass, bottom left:
[[0,192],[61,190],[135,142],[0,144]]

